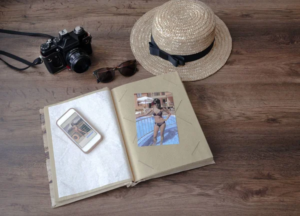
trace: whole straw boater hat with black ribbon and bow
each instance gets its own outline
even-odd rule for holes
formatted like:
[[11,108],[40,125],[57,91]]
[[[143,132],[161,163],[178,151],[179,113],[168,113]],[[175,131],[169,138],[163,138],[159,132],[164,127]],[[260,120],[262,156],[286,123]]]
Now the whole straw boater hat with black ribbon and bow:
[[203,2],[170,0],[136,21],[130,45],[136,60],[149,72],[177,71],[182,81],[194,81],[225,64],[231,36],[225,23]]

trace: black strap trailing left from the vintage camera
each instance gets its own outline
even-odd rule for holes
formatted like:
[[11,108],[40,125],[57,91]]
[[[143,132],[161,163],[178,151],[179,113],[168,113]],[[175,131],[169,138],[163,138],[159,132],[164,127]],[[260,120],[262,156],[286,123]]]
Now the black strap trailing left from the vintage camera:
[[[26,36],[45,36],[45,37],[48,37],[48,38],[53,38],[53,36],[51,36],[49,34],[44,34],[44,33],[22,32],[22,31],[14,31],[14,30],[5,30],[5,29],[1,29],[1,28],[0,28],[0,33],[19,34],[19,35],[26,35]],[[11,64],[7,63],[6,61],[4,61],[0,57],[0,60],[3,61],[7,66],[9,66],[12,69],[16,69],[16,70],[25,70],[25,69],[29,68],[30,66],[34,66],[34,65],[42,63],[42,58],[40,58],[40,57],[38,57],[38,58],[34,59],[32,62],[30,62],[30,61],[27,61],[27,60],[25,60],[21,57],[18,57],[14,54],[11,54],[9,52],[5,52],[5,51],[2,51],[2,50],[0,50],[0,55],[5,55],[7,57],[10,57],[14,60],[20,61],[20,62],[28,65],[27,67],[24,67],[24,68],[18,68],[18,67],[12,66]]]

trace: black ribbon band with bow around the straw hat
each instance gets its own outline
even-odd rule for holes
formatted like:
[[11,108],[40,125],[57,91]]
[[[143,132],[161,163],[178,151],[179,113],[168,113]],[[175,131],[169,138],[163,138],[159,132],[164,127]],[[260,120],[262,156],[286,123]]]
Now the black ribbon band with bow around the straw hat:
[[171,62],[175,67],[178,65],[184,65],[185,62],[194,61],[197,59],[200,59],[201,57],[204,57],[211,49],[214,43],[214,39],[211,42],[211,44],[204,49],[203,51],[190,54],[190,55],[171,55],[163,50],[161,50],[157,44],[155,43],[152,34],[151,34],[151,42],[149,42],[149,51],[151,55],[156,55],[158,57],[161,57],[164,60],[168,60]]

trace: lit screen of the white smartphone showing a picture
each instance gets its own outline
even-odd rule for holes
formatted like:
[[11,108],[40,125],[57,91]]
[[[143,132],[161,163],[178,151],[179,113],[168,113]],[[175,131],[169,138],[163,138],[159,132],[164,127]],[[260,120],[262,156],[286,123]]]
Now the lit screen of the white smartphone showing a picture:
[[60,126],[81,148],[97,134],[76,112]]

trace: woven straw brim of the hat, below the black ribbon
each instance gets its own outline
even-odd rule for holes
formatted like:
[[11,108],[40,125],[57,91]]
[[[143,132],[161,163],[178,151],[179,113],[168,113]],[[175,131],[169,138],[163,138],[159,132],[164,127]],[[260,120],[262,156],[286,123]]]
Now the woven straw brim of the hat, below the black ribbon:
[[232,40],[225,23],[217,16],[215,39],[210,52],[204,57],[186,62],[183,66],[173,66],[169,61],[149,53],[152,22],[155,7],[142,15],[134,24],[130,34],[131,50],[136,60],[150,73],[160,75],[168,72],[178,72],[182,81],[203,79],[220,69],[227,61],[232,47]]

